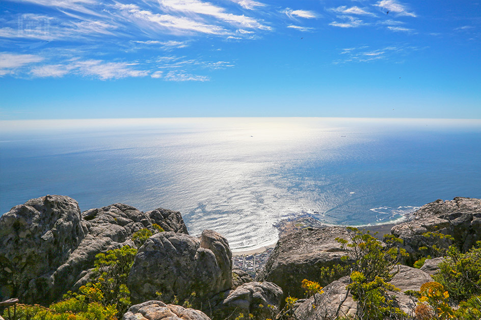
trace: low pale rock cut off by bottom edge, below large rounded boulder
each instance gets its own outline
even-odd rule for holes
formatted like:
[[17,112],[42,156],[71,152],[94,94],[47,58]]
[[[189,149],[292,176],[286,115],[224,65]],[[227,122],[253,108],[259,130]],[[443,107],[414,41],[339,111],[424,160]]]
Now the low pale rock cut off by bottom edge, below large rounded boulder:
[[162,301],[147,301],[131,306],[122,320],[210,320],[202,311]]

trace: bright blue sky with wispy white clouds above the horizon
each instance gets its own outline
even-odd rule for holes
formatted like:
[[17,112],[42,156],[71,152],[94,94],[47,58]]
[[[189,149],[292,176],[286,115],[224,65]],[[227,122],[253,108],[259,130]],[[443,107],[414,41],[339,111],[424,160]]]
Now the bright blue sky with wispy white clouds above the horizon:
[[0,2],[0,120],[481,118],[481,0]]

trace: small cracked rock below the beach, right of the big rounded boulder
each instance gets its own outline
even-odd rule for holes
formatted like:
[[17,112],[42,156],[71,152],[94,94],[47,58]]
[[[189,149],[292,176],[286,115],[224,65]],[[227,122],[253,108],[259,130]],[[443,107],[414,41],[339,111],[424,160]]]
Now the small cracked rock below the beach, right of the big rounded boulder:
[[215,297],[210,303],[214,306],[212,317],[216,319],[235,319],[239,313],[253,314],[256,319],[270,318],[271,309],[268,305],[279,308],[282,299],[282,289],[271,282],[248,282],[228,290],[225,299]]

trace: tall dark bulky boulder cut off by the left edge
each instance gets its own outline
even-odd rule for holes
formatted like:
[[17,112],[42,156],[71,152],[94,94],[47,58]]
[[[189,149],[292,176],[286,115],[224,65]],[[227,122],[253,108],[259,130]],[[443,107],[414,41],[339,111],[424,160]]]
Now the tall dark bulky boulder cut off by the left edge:
[[0,300],[43,298],[50,277],[85,238],[78,203],[47,195],[13,207],[0,217]]

